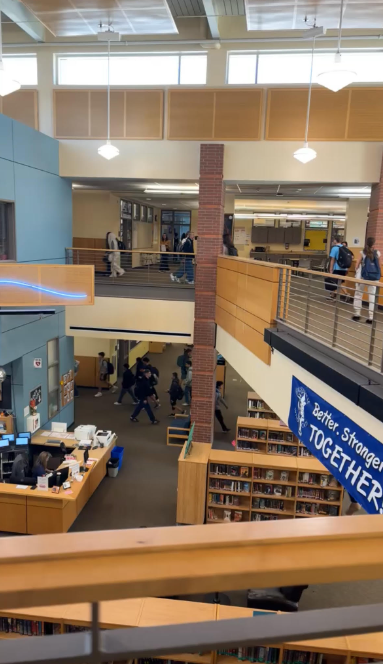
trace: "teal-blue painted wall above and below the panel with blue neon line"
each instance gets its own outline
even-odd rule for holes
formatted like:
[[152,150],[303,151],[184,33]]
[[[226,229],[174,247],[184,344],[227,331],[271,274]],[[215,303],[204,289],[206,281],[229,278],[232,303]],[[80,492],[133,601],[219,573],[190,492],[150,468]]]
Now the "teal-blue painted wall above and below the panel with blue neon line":
[[[0,114],[0,200],[15,203],[18,262],[60,263],[72,243],[71,182],[60,178],[58,141]],[[65,310],[51,316],[0,316],[0,365],[12,376],[17,428],[24,431],[29,393],[42,386],[38,407],[48,423],[47,341],[59,338],[60,376],[74,366],[73,338],[65,336]],[[33,367],[41,357],[41,369]],[[73,403],[54,418],[71,424]]]

